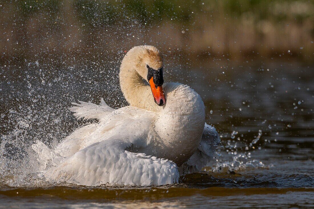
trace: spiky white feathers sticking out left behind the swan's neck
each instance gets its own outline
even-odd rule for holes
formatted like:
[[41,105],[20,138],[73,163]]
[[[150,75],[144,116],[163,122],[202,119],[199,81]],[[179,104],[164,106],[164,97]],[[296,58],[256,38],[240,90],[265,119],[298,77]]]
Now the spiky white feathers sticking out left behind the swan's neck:
[[77,117],[77,119],[84,118],[89,120],[95,118],[101,120],[101,118],[105,117],[108,112],[114,110],[106,104],[103,98],[100,100],[100,105],[82,101],[79,101],[79,103],[80,104],[73,102],[72,105],[75,106],[70,107],[70,110],[74,112],[73,115]]

